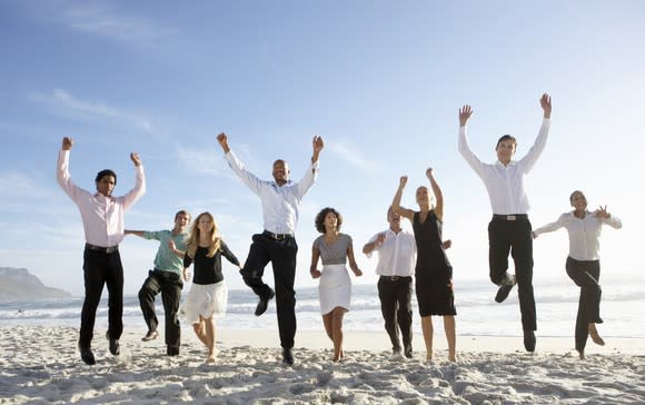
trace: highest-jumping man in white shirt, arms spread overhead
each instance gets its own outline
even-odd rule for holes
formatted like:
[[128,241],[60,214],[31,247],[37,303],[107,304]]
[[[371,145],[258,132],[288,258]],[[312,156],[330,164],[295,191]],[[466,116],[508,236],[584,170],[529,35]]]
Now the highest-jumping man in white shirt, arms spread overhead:
[[[488,261],[490,280],[499,286],[495,300],[506,299],[513,285],[517,283],[524,347],[535,350],[535,330],[537,329],[535,297],[533,295],[533,238],[528,220],[528,198],[524,189],[524,177],[530,171],[542,155],[550,127],[550,97],[544,93],[539,99],[544,119],[535,144],[520,160],[513,160],[517,141],[505,135],[495,148],[497,161],[484,164],[473,154],[466,138],[466,122],[473,113],[470,106],[459,109],[459,152],[466,162],[482,178],[490,207],[493,219],[488,225]],[[515,277],[508,270],[508,254],[515,261]]]

